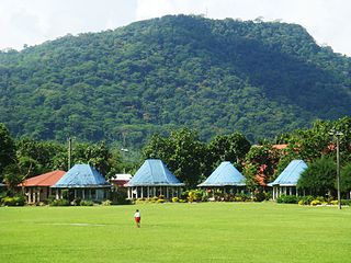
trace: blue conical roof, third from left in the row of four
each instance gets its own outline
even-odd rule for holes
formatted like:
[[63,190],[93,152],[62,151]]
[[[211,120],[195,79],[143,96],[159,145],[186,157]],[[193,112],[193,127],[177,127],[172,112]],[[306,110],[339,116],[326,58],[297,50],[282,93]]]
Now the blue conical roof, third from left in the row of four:
[[245,186],[245,176],[228,161],[222,162],[219,167],[197,186]]

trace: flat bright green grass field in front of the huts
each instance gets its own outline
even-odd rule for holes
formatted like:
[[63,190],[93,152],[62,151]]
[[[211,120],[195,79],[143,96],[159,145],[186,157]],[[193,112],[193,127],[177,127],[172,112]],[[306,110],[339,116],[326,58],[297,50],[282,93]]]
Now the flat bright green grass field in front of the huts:
[[0,207],[0,262],[346,263],[351,262],[351,208],[273,203]]

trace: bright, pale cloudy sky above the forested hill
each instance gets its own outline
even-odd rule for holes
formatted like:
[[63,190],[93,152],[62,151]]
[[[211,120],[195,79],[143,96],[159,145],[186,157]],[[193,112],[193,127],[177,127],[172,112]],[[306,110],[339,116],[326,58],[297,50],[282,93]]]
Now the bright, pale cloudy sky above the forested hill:
[[301,24],[351,57],[350,0],[0,0],[0,50],[180,13]]

